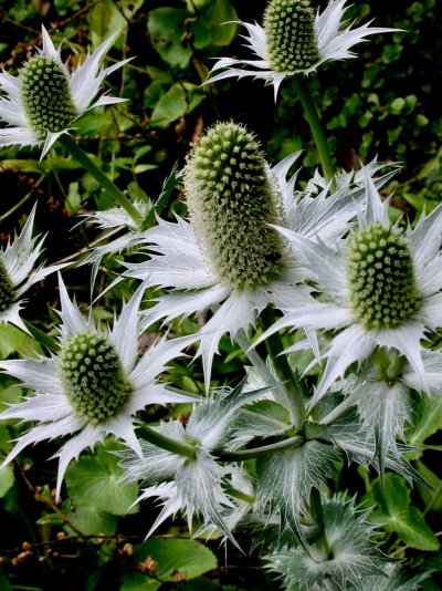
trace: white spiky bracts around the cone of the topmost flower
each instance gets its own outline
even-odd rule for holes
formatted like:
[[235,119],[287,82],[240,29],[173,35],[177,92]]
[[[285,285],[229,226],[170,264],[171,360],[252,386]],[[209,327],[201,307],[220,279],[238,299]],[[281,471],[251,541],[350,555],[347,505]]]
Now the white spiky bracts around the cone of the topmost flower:
[[239,24],[244,27],[249,33],[249,35],[243,35],[246,41],[245,46],[256,58],[252,60],[221,58],[210,71],[210,77],[206,83],[218,82],[228,77],[242,79],[244,76],[253,76],[254,79],[264,80],[266,84],[273,85],[276,101],[280,85],[286,76],[298,73],[307,75],[316,71],[325,62],[355,58],[356,54],[350,49],[365,41],[366,37],[396,31],[396,29],[370,27],[370,22],[357,29],[351,29],[351,24],[346,27],[347,21],[343,20],[346,11],[345,4],[346,0],[330,0],[322,13],[319,11],[317,12],[314,19],[314,33],[318,59],[312,66],[286,71],[272,69],[264,28],[257,23],[252,24],[250,22],[239,21]]

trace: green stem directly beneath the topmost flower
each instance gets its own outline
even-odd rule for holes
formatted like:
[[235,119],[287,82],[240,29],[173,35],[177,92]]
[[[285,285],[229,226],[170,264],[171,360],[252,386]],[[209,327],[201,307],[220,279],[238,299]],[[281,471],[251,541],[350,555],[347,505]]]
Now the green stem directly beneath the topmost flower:
[[332,188],[335,188],[335,168],[333,166],[332,156],[328,149],[327,138],[324,132],[323,124],[320,123],[319,113],[316,108],[315,102],[313,100],[308,83],[303,77],[303,75],[294,76],[294,84],[299,97],[301,104],[304,108],[305,118],[311,126],[313,139],[316,144],[316,149],[318,152],[320,165],[323,167],[324,177],[328,183],[332,182]]

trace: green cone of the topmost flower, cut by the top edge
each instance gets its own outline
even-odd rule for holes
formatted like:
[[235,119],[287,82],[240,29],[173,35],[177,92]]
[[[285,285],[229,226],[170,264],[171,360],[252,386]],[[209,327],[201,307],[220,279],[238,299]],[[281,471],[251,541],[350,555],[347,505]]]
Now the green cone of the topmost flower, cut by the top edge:
[[264,32],[272,70],[307,70],[319,61],[314,23],[308,0],[271,0],[264,13]]

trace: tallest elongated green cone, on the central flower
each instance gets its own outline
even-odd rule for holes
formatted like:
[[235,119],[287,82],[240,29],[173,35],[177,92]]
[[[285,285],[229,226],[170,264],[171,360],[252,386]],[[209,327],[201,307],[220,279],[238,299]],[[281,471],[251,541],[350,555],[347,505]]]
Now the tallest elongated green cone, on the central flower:
[[194,147],[185,173],[190,217],[201,248],[233,289],[269,283],[280,273],[277,196],[254,136],[219,123]]

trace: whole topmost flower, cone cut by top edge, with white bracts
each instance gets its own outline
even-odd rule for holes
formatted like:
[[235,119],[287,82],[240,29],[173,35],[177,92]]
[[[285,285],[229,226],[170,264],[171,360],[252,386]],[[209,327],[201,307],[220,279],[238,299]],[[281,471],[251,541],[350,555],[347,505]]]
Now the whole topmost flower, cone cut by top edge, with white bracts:
[[[309,74],[327,61],[355,58],[350,48],[376,33],[396,29],[370,27],[357,29],[343,21],[346,0],[330,0],[323,13],[316,14],[308,0],[271,0],[264,13],[263,27],[242,22],[249,37],[246,48],[257,59],[221,58],[210,72],[209,82],[227,77],[253,76],[273,84],[275,100],[285,76]],[[250,66],[252,69],[250,69]],[[217,73],[220,70],[223,72]]]

